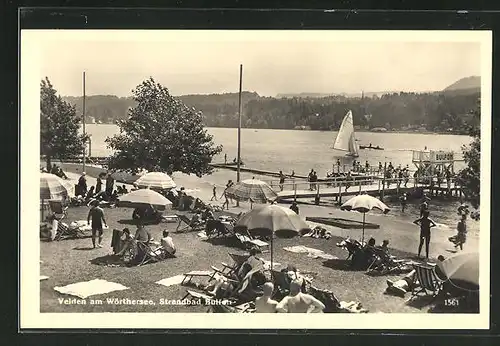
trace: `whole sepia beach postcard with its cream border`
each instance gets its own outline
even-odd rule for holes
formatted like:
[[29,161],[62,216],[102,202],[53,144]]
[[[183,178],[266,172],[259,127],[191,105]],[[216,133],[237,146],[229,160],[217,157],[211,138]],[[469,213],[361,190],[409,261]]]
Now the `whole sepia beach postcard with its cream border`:
[[21,325],[488,328],[491,32],[20,45]]

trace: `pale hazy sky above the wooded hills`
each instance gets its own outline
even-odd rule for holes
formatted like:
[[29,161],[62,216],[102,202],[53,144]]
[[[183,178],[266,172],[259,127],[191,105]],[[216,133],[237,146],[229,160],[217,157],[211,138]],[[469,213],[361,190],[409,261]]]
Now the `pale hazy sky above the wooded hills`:
[[262,96],[437,91],[481,75],[478,41],[450,32],[89,32],[36,36],[41,78],[61,95],[82,94],[83,71],[87,95],[120,97],[150,76],[173,95],[238,92],[240,64],[243,90]]

